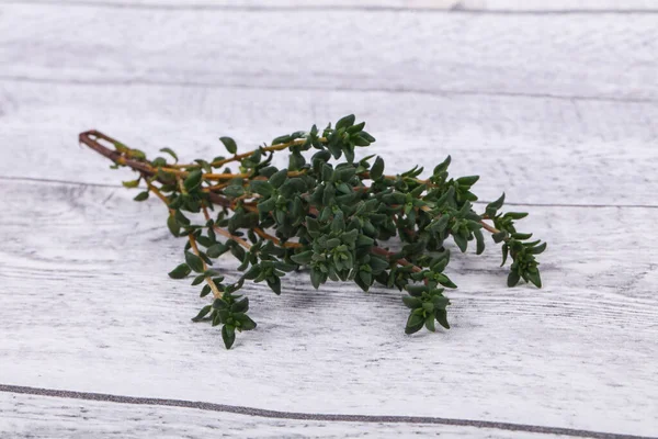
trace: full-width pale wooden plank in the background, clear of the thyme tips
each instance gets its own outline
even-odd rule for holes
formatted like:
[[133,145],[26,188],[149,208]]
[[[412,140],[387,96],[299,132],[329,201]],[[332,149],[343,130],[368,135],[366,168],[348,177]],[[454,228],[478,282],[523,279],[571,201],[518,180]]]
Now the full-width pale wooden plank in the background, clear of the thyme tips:
[[5,80],[658,100],[653,14],[2,11]]

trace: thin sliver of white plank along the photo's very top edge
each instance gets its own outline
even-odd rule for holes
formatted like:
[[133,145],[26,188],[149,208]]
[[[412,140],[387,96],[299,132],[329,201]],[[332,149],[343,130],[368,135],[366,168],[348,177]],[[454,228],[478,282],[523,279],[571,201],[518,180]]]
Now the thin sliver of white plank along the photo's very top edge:
[[[15,3],[16,0],[2,0],[0,3]],[[98,4],[123,8],[305,8],[305,9],[401,9],[451,12],[624,12],[655,11],[651,0],[22,0],[20,3],[38,4]]]

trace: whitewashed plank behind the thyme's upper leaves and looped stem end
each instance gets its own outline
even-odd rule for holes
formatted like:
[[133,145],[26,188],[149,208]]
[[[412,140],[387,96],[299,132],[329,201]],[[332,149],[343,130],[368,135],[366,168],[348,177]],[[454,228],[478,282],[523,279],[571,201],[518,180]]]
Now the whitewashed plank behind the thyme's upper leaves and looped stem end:
[[359,155],[382,155],[387,172],[418,162],[432,169],[451,154],[454,175],[481,176],[483,200],[506,191],[520,203],[657,205],[638,189],[658,187],[658,108],[650,103],[22,82],[0,83],[0,97],[2,177],[129,179],[76,147],[89,128],[150,155],[170,146],[190,160],[222,154],[222,135],[247,150],[354,112],[378,138]]

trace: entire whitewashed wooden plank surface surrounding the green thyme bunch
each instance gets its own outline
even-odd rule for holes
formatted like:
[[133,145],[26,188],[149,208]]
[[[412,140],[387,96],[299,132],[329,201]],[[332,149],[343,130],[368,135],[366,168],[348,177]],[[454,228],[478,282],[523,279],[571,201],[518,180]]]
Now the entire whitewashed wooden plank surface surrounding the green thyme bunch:
[[[0,384],[656,436],[657,15],[331,10],[339,3],[0,5]],[[634,3],[601,4],[560,8]],[[291,32],[296,20],[337,27]],[[451,154],[455,172],[483,176],[483,199],[504,190],[530,211],[525,227],[549,243],[545,289],[507,289],[495,247],[457,256],[453,329],[406,337],[396,291],[316,292],[299,274],[280,297],[250,289],[259,328],[227,352],[216,330],[189,322],[203,304],[195,290],[164,274],[182,244],[161,206],[132,202],[117,188],[129,172],[76,143],[95,127],[196,158],[214,155],[219,135],[246,147],[348,112],[368,122],[392,171]],[[0,436],[219,432],[529,435],[0,392]]]

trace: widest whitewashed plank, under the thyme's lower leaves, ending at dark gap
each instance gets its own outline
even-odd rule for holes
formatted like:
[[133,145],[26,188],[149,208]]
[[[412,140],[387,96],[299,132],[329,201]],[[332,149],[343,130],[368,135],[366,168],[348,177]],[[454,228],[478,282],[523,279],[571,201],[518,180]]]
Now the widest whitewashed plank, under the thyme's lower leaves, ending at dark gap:
[[2,182],[5,384],[655,434],[658,252],[637,227],[653,210],[533,209],[527,228],[549,243],[543,290],[507,289],[495,248],[455,252],[453,328],[440,334],[404,336],[396,291],[316,292],[304,273],[279,297],[249,286],[259,328],[225,351],[189,320],[204,301],[164,275],[182,243],[162,207],[131,196]]

